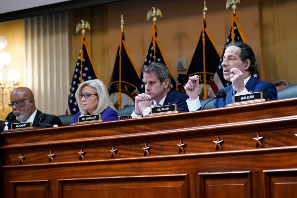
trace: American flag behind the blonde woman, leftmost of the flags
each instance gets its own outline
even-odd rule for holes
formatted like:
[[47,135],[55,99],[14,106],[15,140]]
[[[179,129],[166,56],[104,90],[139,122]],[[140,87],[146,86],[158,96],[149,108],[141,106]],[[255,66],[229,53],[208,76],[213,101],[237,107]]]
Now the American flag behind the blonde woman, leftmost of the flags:
[[75,100],[75,92],[80,84],[87,80],[99,79],[89,54],[87,42],[82,39],[82,47],[76,61],[75,70],[68,93],[68,107],[66,114],[76,114],[80,111]]

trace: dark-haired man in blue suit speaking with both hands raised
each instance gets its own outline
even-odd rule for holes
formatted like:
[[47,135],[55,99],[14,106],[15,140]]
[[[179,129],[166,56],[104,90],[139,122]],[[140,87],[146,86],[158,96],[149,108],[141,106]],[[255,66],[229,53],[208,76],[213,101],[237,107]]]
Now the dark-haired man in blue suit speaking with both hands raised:
[[[232,103],[234,95],[243,95],[253,92],[268,90],[271,100],[278,99],[278,93],[272,83],[256,80],[253,75],[257,69],[256,57],[252,48],[242,42],[230,43],[223,56],[223,72],[225,80],[232,82],[232,85],[223,88],[226,98],[215,99],[213,108],[224,107]],[[187,105],[190,111],[200,110],[199,101],[199,76],[189,78],[185,85],[189,95]]]

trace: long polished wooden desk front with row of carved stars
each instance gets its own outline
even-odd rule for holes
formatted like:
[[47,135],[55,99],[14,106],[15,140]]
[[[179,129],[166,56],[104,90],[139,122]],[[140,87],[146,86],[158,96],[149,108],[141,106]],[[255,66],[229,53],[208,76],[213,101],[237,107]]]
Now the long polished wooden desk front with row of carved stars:
[[291,170],[297,164],[296,112],[297,99],[288,99],[5,132],[0,189],[6,198],[23,187],[29,192],[45,186],[11,187],[11,181],[48,181],[49,197],[278,197],[283,190],[290,197],[296,183]]

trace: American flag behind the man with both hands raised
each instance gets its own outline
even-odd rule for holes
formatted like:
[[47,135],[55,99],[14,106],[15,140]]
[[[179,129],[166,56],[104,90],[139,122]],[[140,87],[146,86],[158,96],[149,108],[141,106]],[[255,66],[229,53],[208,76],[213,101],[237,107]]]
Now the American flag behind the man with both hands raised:
[[[229,35],[228,35],[228,39],[226,41],[223,53],[222,53],[222,57],[220,59],[220,64],[217,66],[217,71],[214,75],[213,78],[213,82],[211,84],[211,88],[209,89],[208,95],[209,97],[213,97],[215,96],[215,94],[217,93],[217,91],[221,88],[227,87],[229,85],[231,85],[231,82],[227,81],[224,79],[224,75],[223,75],[223,68],[222,68],[222,62],[223,62],[223,56],[225,53],[225,49],[226,46],[231,43],[231,42],[244,42],[247,43],[247,41],[245,40],[244,34],[242,32],[241,27],[239,26],[238,22],[238,15],[232,14],[232,23],[233,23],[233,27],[231,27]],[[233,31],[232,31],[233,30]],[[233,40],[232,40],[233,38]],[[254,77],[256,79],[260,79],[260,75],[259,75],[259,71],[256,71],[256,74],[254,75]]]

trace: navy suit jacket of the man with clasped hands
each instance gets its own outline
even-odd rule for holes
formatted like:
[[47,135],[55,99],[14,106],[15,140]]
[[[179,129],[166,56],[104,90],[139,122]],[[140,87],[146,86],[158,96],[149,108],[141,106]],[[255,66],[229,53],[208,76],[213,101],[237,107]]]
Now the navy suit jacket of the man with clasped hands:
[[171,89],[167,93],[163,105],[177,105],[178,111],[189,111],[186,100],[189,98],[188,95],[180,93],[178,91],[172,91]]

